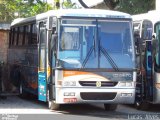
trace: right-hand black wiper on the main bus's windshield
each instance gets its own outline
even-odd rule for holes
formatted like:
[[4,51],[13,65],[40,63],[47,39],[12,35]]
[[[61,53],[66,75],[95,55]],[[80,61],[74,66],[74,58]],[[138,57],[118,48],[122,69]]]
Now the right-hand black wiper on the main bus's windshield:
[[114,60],[112,59],[112,57],[108,54],[108,52],[105,50],[105,48],[103,48],[102,46],[100,46],[100,51],[103,53],[103,55],[108,60],[108,62],[110,63],[110,65],[115,69],[115,71],[119,71],[118,66],[116,65],[116,63],[114,62]]

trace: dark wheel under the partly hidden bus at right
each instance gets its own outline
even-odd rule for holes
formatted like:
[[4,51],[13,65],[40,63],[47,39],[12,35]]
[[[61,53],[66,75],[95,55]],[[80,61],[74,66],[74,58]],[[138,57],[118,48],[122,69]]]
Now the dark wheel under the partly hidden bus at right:
[[148,110],[150,104],[148,102],[136,102],[135,107],[139,110]]

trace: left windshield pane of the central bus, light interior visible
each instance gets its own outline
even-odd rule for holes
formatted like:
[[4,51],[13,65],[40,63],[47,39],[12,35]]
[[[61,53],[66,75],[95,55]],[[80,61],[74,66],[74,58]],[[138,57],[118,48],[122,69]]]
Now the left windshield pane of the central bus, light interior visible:
[[97,68],[98,58],[93,56],[93,44],[96,40],[95,23],[95,20],[64,19],[61,21],[58,53],[61,67]]

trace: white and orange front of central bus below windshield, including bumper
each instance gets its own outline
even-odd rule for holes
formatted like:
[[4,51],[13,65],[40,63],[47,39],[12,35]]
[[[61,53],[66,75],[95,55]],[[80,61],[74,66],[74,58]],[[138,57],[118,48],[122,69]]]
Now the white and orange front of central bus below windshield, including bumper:
[[[56,70],[56,76],[59,75],[55,78],[57,81],[56,103],[134,103],[136,72],[133,73],[134,82],[123,79],[113,81],[110,80],[111,77],[105,78],[93,72],[78,71],[79,74],[74,73],[77,71],[69,72],[66,75],[64,71]],[[124,81],[126,84],[132,85],[124,87],[122,85],[125,84]]]

